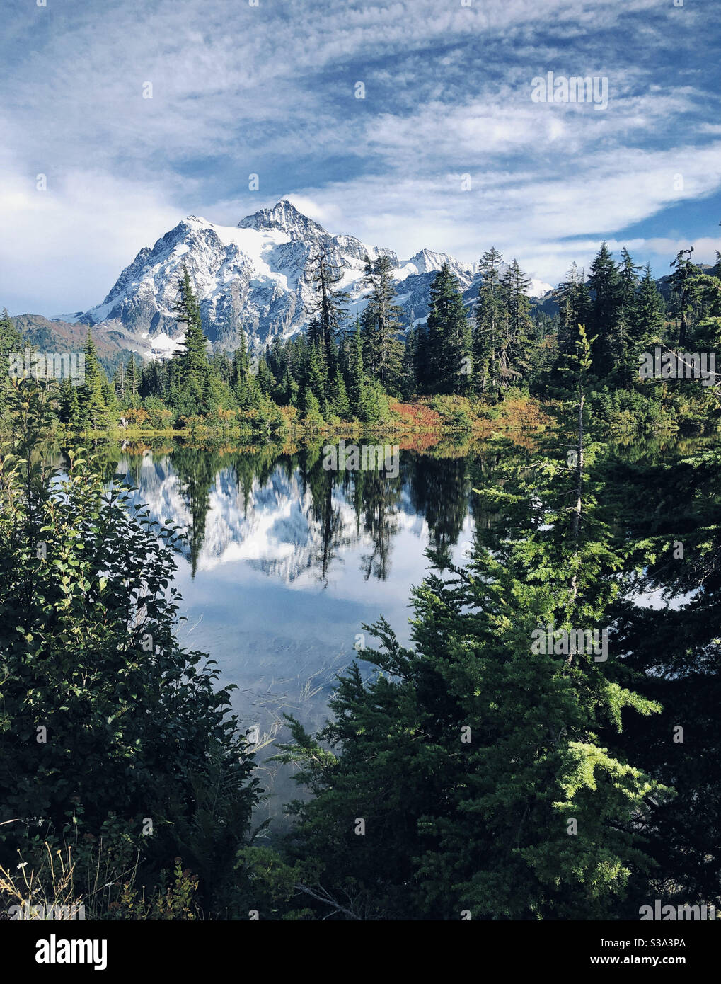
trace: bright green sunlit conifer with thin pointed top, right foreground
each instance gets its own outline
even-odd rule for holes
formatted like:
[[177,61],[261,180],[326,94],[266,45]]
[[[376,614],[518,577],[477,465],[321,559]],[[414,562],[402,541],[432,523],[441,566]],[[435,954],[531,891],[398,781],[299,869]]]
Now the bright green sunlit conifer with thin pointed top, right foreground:
[[600,632],[620,589],[587,491],[589,364],[581,336],[575,465],[563,428],[543,456],[514,452],[501,490],[480,490],[506,507],[492,544],[480,536],[467,568],[414,591],[414,649],[381,619],[382,648],[363,655],[381,672],[340,677],[316,738],[291,719],[279,758],[314,794],[292,806],[291,858],[322,863],[348,918],[603,919],[648,867],[637,818],[663,790],[597,732],[620,730],[625,708],[658,707],[623,667],[564,644],[575,628]]

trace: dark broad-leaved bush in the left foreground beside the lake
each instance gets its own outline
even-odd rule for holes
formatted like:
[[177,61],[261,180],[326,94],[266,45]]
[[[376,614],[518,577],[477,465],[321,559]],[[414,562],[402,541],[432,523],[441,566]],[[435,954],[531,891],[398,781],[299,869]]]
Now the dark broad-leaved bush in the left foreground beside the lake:
[[130,492],[98,461],[53,474],[30,439],[2,446],[0,820],[15,822],[0,863],[69,816],[98,836],[117,814],[132,835],[151,828],[156,868],[195,855],[208,887],[247,833],[257,780],[230,688],[175,639],[177,527]]

